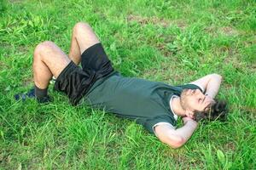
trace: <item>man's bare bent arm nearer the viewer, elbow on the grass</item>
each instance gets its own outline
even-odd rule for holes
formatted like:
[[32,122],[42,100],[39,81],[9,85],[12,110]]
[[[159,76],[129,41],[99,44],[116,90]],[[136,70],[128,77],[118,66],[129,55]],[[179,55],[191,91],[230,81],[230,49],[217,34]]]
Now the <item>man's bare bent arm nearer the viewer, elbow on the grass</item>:
[[197,127],[197,122],[189,117],[183,117],[183,127],[174,129],[166,124],[154,127],[154,132],[161,142],[176,149],[185,144]]

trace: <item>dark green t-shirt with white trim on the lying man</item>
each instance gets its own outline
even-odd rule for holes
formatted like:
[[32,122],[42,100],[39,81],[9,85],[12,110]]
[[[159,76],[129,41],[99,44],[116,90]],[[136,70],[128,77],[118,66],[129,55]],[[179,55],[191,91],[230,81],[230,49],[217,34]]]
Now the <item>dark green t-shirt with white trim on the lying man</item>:
[[[87,105],[111,112],[116,116],[135,119],[150,133],[154,125],[166,122],[176,127],[177,116],[170,108],[170,99],[179,96],[184,88],[199,88],[194,84],[170,86],[135,77],[122,77],[113,71],[95,82],[84,96]],[[201,89],[201,88],[199,88]]]

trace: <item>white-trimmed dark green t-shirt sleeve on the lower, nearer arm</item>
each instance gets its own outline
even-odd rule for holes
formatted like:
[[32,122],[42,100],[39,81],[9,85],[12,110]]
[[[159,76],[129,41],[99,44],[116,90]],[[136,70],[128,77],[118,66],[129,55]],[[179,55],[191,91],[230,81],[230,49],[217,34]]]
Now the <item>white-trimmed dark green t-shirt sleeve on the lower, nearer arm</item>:
[[145,120],[145,122],[143,123],[143,127],[145,127],[149,133],[154,133],[154,127],[160,125],[161,123],[168,123],[173,128],[177,126],[177,122],[174,117],[168,115],[160,115]]

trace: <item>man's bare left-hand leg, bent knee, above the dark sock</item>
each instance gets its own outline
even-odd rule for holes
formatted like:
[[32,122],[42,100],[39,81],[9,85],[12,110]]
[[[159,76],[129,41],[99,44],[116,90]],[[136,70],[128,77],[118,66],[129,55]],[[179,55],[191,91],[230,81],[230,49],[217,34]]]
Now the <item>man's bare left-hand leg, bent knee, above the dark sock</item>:
[[39,43],[33,59],[35,85],[41,89],[47,88],[51,77],[58,77],[69,62],[70,59],[54,42]]

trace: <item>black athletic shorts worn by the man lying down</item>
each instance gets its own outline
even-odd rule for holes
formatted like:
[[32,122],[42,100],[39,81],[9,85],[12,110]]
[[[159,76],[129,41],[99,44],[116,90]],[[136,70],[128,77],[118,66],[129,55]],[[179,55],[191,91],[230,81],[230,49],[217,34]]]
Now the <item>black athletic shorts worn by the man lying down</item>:
[[108,76],[113,71],[111,61],[101,43],[87,48],[81,58],[82,68],[71,61],[55,82],[55,90],[67,94],[72,105],[79,103],[96,80]]

